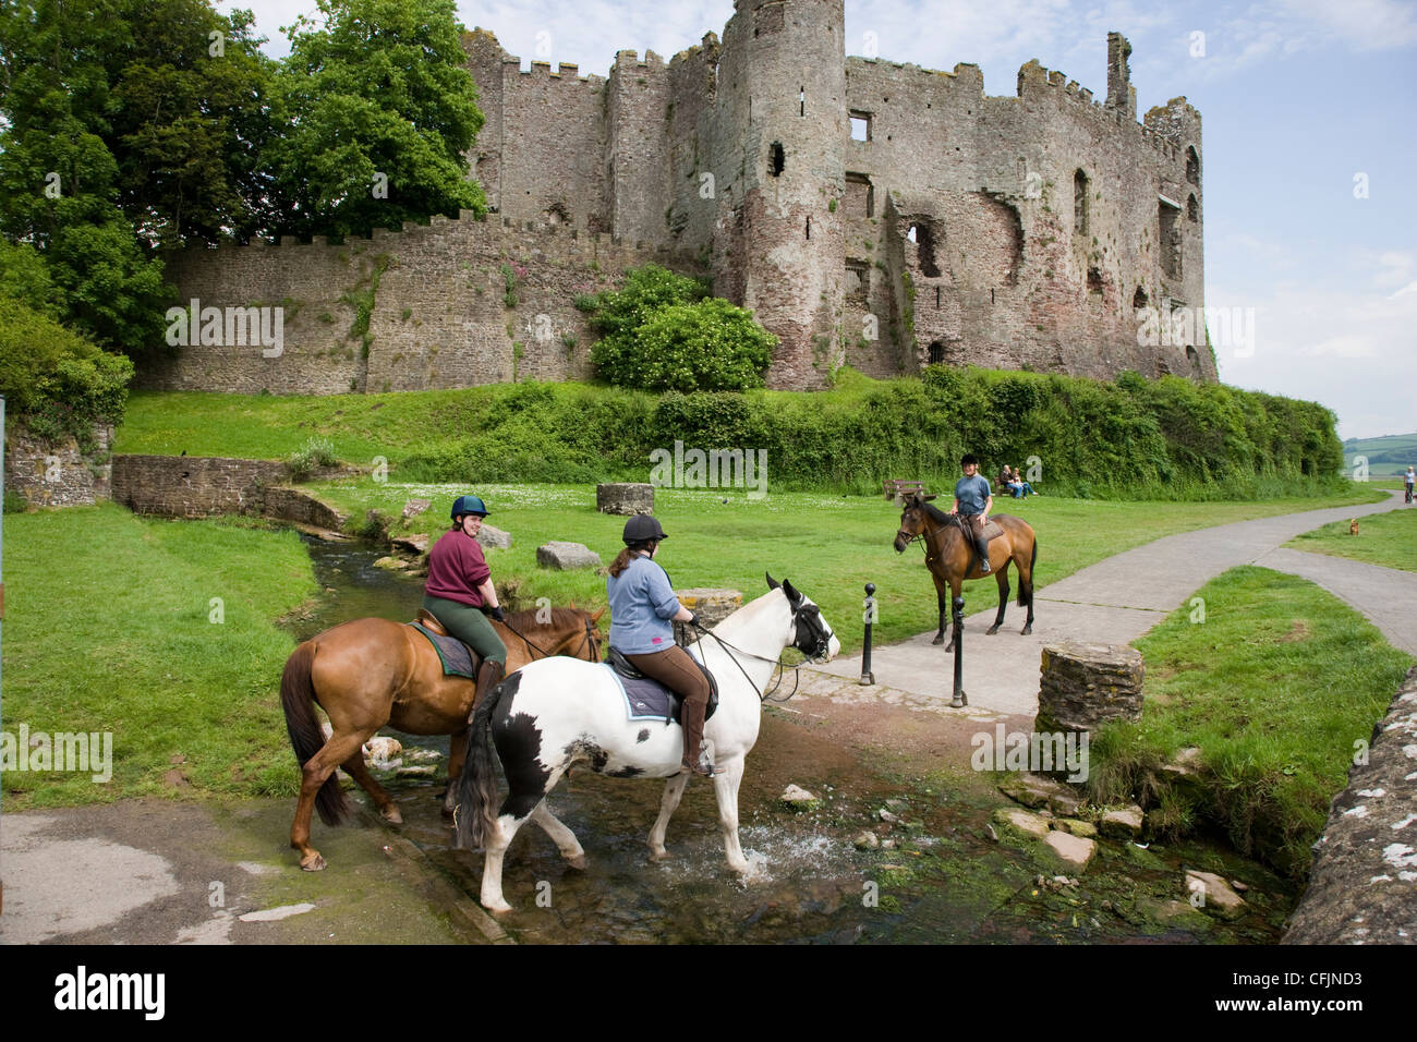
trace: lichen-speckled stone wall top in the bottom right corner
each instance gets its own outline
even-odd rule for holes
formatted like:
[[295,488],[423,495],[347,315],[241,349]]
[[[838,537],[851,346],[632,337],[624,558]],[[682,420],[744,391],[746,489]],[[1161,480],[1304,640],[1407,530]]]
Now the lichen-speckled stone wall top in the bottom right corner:
[[1333,797],[1281,943],[1417,943],[1417,666]]

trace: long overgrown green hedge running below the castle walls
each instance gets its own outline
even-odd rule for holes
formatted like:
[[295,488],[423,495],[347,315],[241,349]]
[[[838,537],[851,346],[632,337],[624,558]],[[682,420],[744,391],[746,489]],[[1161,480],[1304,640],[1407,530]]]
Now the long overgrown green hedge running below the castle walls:
[[[945,488],[969,451],[986,475],[1037,466],[1056,495],[1241,499],[1322,493],[1340,481],[1335,415],[1322,405],[1195,384],[1115,383],[932,366],[921,377],[836,388],[645,394],[524,383],[480,398],[476,437],[400,461],[412,481],[648,481],[649,454],[767,449],[782,489],[866,493],[881,478]],[[1036,459],[1032,459],[1036,458]]]

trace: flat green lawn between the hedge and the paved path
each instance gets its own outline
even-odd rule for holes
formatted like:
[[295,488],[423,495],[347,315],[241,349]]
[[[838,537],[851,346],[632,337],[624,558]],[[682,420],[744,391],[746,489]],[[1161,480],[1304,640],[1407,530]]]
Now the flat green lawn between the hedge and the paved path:
[[[356,519],[370,509],[393,519],[391,532],[428,533],[448,523],[448,506],[462,492],[487,500],[490,525],[510,532],[510,550],[487,551],[493,577],[516,581],[521,607],[537,597],[555,604],[605,604],[605,580],[591,570],[551,571],[537,566],[536,547],[548,540],[585,543],[608,564],[621,546],[625,519],[595,510],[589,485],[405,485],[371,478],[310,486],[322,499]],[[1162,536],[1210,525],[1268,517],[1295,510],[1372,502],[1372,489],[1349,486],[1328,500],[1274,499],[1258,503],[1132,503],[1033,496],[996,500],[998,513],[1023,517],[1039,532],[1037,583],[1046,586],[1078,568]],[[1379,493],[1380,495],[1380,493]],[[432,508],[405,527],[398,519],[411,498]],[[924,553],[891,549],[900,509],[880,496],[779,493],[748,499],[743,489],[656,489],[655,513],[670,533],[660,563],[676,586],[731,587],[751,600],[765,591],[765,570],[791,578],[808,593],[839,631],[842,646],[853,651],[862,639],[863,586],[877,586],[877,641],[900,641],[935,625],[935,588]],[[1016,574],[1010,586],[1017,593]],[[998,603],[993,580],[965,586],[968,610]],[[1017,605],[1006,625],[1023,627]]]

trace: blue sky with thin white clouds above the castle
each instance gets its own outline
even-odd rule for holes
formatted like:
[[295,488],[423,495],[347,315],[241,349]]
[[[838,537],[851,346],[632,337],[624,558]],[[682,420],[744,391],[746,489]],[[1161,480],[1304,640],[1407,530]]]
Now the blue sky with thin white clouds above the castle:
[[[278,27],[315,11],[218,6],[251,7],[273,55],[286,51]],[[458,11],[523,65],[605,75],[618,50],[667,58],[721,35],[733,3]],[[891,61],[975,62],[990,95],[1013,95],[1037,58],[1104,96],[1110,30],[1132,43],[1139,112],[1186,95],[1202,115],[1206,303],[1254,309],[1253,346],[1217,347],[1220,379],[1322,401],[1345,438],[1417,430],[1417,1],[846,0],[849,52],[874,40]]]

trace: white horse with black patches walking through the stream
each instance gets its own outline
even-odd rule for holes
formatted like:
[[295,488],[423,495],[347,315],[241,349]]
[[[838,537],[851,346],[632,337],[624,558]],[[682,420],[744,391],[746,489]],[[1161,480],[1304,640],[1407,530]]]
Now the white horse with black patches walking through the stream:
[[[816,604],[768,576],[769,591],[745,604],[701,637],[691,648],[718,682],[718,710],[704,724],[704,743],[724,773],[713,778],[728,868],[748,872],[738,845],[738,783],[744,757],[758,740],[764,688],[778,669],[788,645],[809,661],[829,661],[840,641]],[[537,822],[571,868],[585,866],[585,851],[546,805],[546,795],[571,764],[589,763],[612,778],[667,778],[659,818],[649,831],[655,861],[665,852],[669,817],[689,781],[683,771],[683,730],[679,724],[631,720],[625,695],[609,666],[568,658],[533,662],[493,688],[478,705],[469,729],[468,764],[458,794],[456,848],[486,848],[482,868],[483,907],[510,912],[502,893],[502,861],[507,845],[527,821]],[[509,792],[495,812],[496,746]]]

